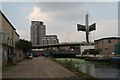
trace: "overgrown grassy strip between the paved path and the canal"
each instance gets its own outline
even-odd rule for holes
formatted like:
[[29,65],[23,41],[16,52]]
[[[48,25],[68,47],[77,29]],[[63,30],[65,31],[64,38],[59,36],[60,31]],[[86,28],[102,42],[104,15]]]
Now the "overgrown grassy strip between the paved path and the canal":
[[84,74],[84,73],[80,72],[79,68],[74,66],[73,63],[74,63],[75,60],[72,59],[72,58],[69,58],[69,59],[68,58],[67,59],[63,58],[63,59],[57,60],[55,58],[49,57],[49,59],[57,62],[58,64],[64,66],[66,69],[75,73],[76,76],[73,76],[73,77],[87,78],[89,80],[98,80],[98,79],[96,79],[92,76],[89,76],[88,74]]

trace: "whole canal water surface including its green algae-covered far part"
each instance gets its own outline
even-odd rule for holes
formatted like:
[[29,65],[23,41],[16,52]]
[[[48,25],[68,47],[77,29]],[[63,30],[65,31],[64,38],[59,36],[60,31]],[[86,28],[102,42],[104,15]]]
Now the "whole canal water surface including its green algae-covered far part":
[[[79,68],[79,71],[93,76],[95,78],[118,78],[120,79],[120,68],[116,65],[111,65],[106,62],[91,62],[83,59],[66,58],[72,60],[75,67]],[[56,60],[64,60],[63,58],[57,58]]]

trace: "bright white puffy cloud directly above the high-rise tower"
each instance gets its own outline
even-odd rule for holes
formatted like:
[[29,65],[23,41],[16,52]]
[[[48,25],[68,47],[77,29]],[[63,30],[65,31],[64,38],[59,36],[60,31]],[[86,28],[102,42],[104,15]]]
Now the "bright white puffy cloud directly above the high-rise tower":
[[28,20],[47,21],[48,18],[46,13],[41,12],[41,8],[34,6],[33,12],[28,15]]

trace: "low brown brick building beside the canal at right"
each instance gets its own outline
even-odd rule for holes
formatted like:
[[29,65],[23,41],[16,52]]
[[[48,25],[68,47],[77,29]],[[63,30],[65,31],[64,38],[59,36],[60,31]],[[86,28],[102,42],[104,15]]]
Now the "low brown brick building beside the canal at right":
[[111,55],[115,52],[115,45],[120,41],[119,37],[107,37],[95,40],[95,49],[103,55]]

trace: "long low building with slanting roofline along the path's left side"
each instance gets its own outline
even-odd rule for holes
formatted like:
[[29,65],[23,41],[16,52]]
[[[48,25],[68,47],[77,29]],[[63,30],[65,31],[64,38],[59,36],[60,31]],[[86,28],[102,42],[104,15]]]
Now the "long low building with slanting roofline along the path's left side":
[[7,63],[13,55],[18,55],[20,51],[15,48],[15,43],[19,41],[19,34],[16,29],[6,18],[6,16],[0,11],[1,28],[0,28],[0,44],[2,45],[2,59],[3,64]]

